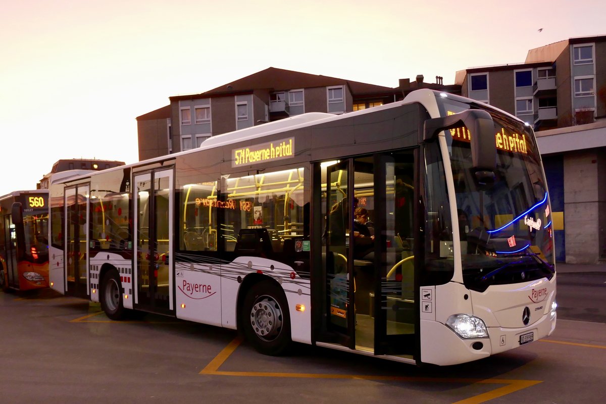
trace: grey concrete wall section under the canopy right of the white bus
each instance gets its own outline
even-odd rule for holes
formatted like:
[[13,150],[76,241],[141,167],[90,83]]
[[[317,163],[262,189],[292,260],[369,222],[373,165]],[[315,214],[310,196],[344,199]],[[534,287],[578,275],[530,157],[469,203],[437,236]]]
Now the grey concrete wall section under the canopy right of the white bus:
[[[598,263],[604,236],[599,202],[598,150],[564,154],[564,230],[566,262]],[[602,174],[601,174],[602,175]],[[602,186],[603,187],[603,186]],[[602,191],[604,193],[604,191]]]

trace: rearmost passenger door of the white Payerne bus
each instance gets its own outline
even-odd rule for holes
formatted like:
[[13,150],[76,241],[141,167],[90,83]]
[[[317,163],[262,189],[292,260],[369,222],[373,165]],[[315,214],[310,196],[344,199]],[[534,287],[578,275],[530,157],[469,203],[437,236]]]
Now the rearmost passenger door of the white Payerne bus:
[[65,188],[65,287],[68,295],[89,297],[88,185]]

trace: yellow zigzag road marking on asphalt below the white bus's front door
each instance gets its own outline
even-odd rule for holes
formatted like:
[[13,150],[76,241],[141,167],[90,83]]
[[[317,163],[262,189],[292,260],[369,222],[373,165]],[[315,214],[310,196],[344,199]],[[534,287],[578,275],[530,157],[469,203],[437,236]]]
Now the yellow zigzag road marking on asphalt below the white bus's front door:
[[508,380],[508,379],[456,379],[456,378],[432,378],[432,377],[405,377],[405,376],[368,376],[354,374],[317,374],[317,373],[273,373],[273,372],[238,372],[221,371],[219,368],[228,357],[238,348],[242,340],[239,337],[232,340],[199,374],[215,376],[248,376],[248,377],[295,377],[305,379],[359,379],[359,380],[396,380],[400,382],[431,382],[431,383],[481,383],[481,384],[505,384],[497,389],[460,400],[454,404],[480,404],[488,400],[505,396],[511,392],[518,391],[538,383],[542,380]]

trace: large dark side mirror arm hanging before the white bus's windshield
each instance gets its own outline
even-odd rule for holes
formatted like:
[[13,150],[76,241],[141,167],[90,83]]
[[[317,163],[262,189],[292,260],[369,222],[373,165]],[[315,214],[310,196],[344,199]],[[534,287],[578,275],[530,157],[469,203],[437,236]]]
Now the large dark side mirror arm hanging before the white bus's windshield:
[[471,133],[471,163],[481,184],[494,180],[496,143],[494,122],[487,111],[467,110],[425,121],[424,141],[435,139],[441,131],[464,126]]

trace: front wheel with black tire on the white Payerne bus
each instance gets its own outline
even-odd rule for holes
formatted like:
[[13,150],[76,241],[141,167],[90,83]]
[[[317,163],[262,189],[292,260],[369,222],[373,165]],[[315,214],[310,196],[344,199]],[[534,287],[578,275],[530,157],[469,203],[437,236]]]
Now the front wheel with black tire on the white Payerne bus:
[[253,285],[242,306],[244,336],[257,351],[278,356],[287,353],[290,314],[284,291],[277,283],[264,280]]

